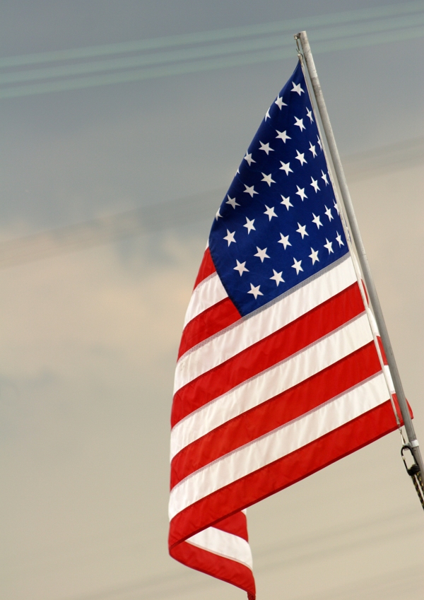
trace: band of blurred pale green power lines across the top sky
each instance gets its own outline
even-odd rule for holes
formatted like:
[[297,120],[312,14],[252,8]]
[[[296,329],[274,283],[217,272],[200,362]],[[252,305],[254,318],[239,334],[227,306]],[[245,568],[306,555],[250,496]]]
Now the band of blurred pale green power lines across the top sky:
[[[424,35],[423,25],[423,5],[413,1],[302,20],[153,38],[122,45],[6,57],[0,59],[0,69],[43,63],[59,64],[0,73],[0,98],[143,81],[295,57],[292,36],[283,37],[281,33],[293,33],[309,26],[312,27],[310,37],[314,42],[314,52],[319,53],[411,40]],[[271,35],[272,33],[278,35]],[[165,48],[172,49],[163,52]],[[153,49],[162,51],[151,52]],[[119,54],[132,55],[117,57]],[[99,57],[109,58],[85,60]],[[79,62],[69,64],[69,60],[76,59]],[[63,64],[64,61],[68,62]],[[26,85],[22,85],[24,83]]]

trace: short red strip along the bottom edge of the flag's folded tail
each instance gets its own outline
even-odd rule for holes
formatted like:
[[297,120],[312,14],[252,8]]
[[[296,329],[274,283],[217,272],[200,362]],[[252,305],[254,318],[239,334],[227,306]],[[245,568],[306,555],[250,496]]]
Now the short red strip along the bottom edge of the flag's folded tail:
[[186,542],[170,548],[170,555],[187,567],[192,567],[206,575],[212,575],[212,577],[244,589],[249,600],[255,599],[254,577],[249,567]]

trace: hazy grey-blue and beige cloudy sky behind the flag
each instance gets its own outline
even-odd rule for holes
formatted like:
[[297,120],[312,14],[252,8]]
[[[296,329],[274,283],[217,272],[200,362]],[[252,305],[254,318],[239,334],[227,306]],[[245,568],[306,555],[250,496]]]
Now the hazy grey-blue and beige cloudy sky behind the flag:
[[[317,49],[423,443],[418,5],[1,3],[1,597],[245,597],[167,555],[172,380],[213,215],[295,68],[298,30]],[[374,16],[358,12],[371,9]],[[250,33],[237,37],[243,27]],[[224,29],[226,41],[216,41]],[[273,36],[281,47],[243,51],[238,62],[233,54],[199,59],[214,44],[227,52],[224,43],[266,46]],[[146,40],[158,49],[143,49]],[[109,54],[100,53],[105,46]],[[69,76],[94,60],[151,61],[168,50],[192,54],[181,68],[168,58],[134,76],[108,62],[105,85],[97,72],[86,83]],[[392,433],[249,508],[259,599],[422,597],[422,509],[400,445]]]

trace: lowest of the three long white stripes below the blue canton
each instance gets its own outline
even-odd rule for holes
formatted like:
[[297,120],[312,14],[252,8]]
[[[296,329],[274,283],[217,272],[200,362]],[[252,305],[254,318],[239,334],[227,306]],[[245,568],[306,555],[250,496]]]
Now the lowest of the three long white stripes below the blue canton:
[[389,399],[382,372],[314,411],[195,471],[172,488],[169,515],[317,440]]

